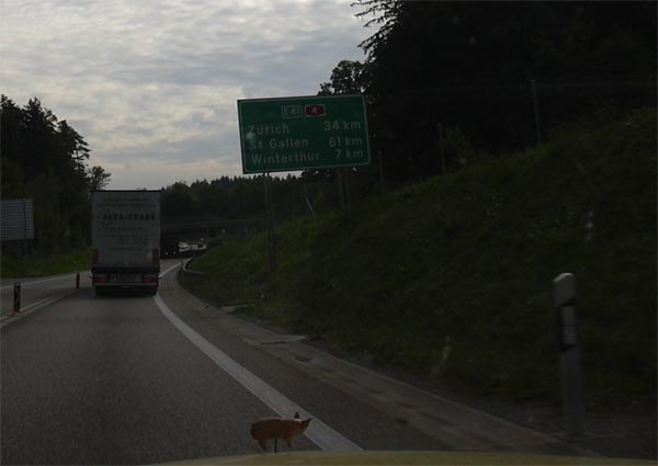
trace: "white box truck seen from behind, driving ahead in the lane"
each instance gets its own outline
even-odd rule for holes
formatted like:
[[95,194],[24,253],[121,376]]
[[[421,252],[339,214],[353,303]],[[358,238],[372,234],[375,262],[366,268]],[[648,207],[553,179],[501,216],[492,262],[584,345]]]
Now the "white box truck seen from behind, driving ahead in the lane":
[[92,191],[91,279],[97,295],[107,289],[158,292],[160,192]]

